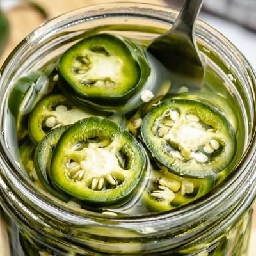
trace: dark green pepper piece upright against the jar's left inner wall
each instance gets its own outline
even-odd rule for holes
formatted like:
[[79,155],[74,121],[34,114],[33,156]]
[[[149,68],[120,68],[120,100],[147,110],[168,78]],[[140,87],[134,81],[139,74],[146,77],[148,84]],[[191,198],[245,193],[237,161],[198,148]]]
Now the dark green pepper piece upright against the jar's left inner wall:
[[26,116],[47,92],[48,84],[48,77],[39,71],[29,72],[14,84],[8,99],[8,108],[15,117],[19,140],[24,138],[28,131]]

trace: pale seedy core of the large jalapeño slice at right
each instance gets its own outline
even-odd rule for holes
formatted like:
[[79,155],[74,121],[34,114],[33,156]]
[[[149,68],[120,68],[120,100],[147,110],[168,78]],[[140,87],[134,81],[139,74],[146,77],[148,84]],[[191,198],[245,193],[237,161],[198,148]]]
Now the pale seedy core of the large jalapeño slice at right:
[[211,154],[225,147],[218,132],[195,114],[168,109],[161,120],[156,120],[156,127],[159,138],[166,141],[166,150],[183,161],[206,163]]

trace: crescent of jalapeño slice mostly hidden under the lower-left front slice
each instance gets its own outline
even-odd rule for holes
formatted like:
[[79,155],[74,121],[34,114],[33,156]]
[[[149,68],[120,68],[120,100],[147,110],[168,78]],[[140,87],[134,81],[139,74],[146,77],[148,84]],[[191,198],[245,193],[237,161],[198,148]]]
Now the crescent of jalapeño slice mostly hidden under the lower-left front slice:
[[51,193],[51,195],[60,198],[61,200],[68,202],[70,197],[66,196],[62,192],[58,191],[51,183],[49,179],[49,172],[50,172],[50,164],[51,164],[51,157],[54,148],[60,136],[65,132],[68,128],[68,125],[55,129],[52,132],[49,132],[44,140],[42,140],[36,147],[35,151],[35,170],[40,180],[42,186]]

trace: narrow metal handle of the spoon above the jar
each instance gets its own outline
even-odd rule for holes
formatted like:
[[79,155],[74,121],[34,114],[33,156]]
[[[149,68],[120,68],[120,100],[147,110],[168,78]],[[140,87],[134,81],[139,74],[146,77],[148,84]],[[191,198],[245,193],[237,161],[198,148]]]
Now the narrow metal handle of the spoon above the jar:
[[179,30],[192,35],[196,17],[200,12],[204,0],[186,0],[180,14],[172,26],[172,30]]

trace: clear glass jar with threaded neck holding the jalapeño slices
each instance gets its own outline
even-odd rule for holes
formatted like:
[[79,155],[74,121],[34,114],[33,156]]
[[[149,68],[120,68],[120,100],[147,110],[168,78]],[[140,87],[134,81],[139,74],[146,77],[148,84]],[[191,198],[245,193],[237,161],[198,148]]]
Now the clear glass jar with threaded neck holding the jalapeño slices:
[[239,131],[244,132],[241,159],[220,186],[175,211],[111,218],[37,191],[20,170],[7,99],[22,74],[40,69],[84,33],[115,31],[152,40],[168,30],[176,17],[174,10],[150,4],[83,8],[40,26],[6,60],[0,78],[0,192],[12,256],[246,255],[256,195],[256,78],[236,47],[202,21],[196,23],[200,51],[236,97],[243,113],[239,122],[244,122],[243,131]]

